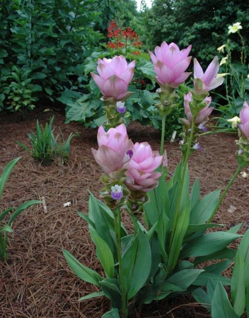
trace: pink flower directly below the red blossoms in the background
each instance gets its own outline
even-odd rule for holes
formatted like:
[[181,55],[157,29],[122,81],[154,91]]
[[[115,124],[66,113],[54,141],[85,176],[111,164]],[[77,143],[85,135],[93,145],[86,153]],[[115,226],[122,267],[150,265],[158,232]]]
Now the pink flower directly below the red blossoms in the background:
[[125,97],[133,74],[135,61],[127,65],[123,55],[114,56],[113,59],[98,60],[97,71],[99,75],[91,72],[94,82],[99,86],[104,97],[122,100]]

